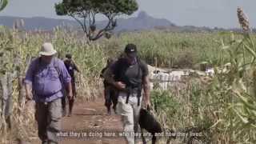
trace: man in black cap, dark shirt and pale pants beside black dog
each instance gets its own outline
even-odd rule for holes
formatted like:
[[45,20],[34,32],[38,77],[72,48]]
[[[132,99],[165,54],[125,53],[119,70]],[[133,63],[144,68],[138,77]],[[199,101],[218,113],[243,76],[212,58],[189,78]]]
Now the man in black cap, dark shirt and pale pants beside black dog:
[[119,58],[104,73],[104,78],[118,91],[117,113],[122,115],[126,142],[134,144],[134,132],[138,132],[138,115],[143,100],[150,106],[148,67],[137,56],[134,44],[126,45],[124,58]]

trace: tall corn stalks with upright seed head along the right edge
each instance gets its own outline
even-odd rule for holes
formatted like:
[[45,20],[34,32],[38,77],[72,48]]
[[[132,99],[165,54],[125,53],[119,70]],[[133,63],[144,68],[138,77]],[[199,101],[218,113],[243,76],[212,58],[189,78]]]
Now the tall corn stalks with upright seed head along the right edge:
[[[256,137],[256,47],[250,35],[248,18],[238,8],[238,18],[243,29],[243,38],[234,39],[230,34],[227,44],[222,40],[222,51],[229,60],[219,61],[215,67],[215,89],[211,91],[222,99],[222,122],[216,126],[221,131],[220,142],[255,143]],[[218,90],[218,91],[216,91]]]

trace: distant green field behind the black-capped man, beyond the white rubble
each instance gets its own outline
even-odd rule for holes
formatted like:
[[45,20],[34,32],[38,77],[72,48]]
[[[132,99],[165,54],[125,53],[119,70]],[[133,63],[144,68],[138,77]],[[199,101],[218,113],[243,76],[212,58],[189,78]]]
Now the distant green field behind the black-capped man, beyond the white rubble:
[[[253,36],[254,37],[254,36]],[[221,41],[226,42],[229,33],[166,33],[161,30],[123,33],[108,42],[102,42],[110,56],[122,52],[127,43],[133,42],[138,46],[139,55],[151,65],[161,67],[178,67],[198,69],[201,62],[210,65],[218,64],[220,58],[227,62],[229,55],[222,57]],[[242,38],[234,33],[234,38]]]

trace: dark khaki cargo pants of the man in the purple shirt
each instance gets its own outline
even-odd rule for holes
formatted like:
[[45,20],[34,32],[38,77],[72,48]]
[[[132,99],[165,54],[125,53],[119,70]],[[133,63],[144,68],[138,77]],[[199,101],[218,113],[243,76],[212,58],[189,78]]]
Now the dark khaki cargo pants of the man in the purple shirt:
[[52,102],[37,102],[35,118],[38,122],[38,137],[42,144],[58,144],[56,134],[61,129],[62,99]]

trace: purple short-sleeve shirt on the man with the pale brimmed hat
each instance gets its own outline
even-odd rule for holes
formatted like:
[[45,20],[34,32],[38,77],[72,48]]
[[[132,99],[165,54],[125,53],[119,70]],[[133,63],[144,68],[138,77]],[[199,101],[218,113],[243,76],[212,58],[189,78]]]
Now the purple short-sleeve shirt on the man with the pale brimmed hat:
[[64,86],[70,81],[64,62],[58,58],[53,58],[49,64],[35,58],[26,71],[25,83],[32,86],[36,102],[51,102],[62,98]]

